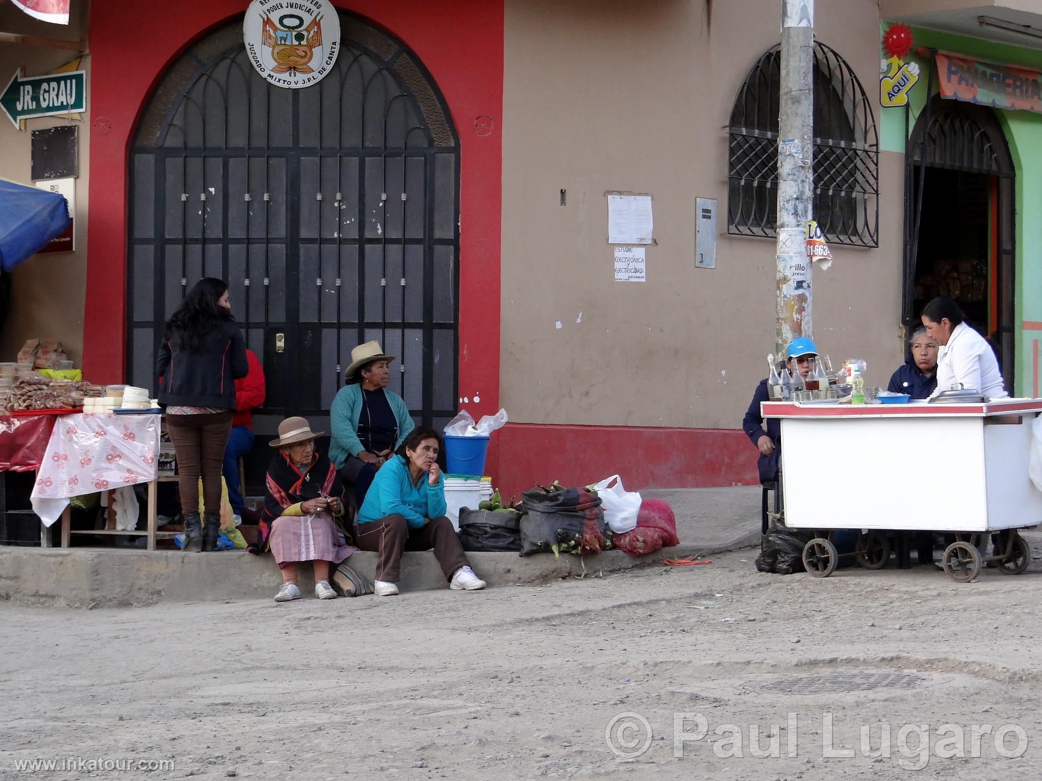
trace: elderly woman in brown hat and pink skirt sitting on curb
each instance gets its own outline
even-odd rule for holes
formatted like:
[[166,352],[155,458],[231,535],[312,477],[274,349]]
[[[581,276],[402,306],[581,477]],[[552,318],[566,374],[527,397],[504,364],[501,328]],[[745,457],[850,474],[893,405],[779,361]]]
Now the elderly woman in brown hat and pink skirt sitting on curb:
[[336,598],[329,585],[329,564],[339,564],[357,550],[349,545],[342,526],[344,486],[329,459],[315,449],[319,436],[322,432],[312,431],[303,418],[287,418],[278,426],[278,438],[271,443],[278,452],[265,480],[260,538],[249,550],[259,555],[271,547],[282,574],[276,602],[300,599],[300,561],[311,561],[315,568],[315,596]]

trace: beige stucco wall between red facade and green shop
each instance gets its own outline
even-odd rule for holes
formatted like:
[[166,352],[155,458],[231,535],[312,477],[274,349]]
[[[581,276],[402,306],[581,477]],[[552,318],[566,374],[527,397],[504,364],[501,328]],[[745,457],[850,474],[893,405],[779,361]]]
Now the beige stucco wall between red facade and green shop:
[[[873,98],[877,2],[817,5],[817,36]],[[506,0],[501,400],[514,421],[737,428],[766,374],[774,244],[726,235],[724,126],[779,40],[780,3],[712,6],[710,26],[703,0]],[[883,385],[901,358],[901,173],[884,154],[879,248],[834,247],[814,276],[819,348],[865,358]],[[605,191],[654,196],[645,283],[614,279]],[[717,199],[715,270],[694,264],[696,197]]]

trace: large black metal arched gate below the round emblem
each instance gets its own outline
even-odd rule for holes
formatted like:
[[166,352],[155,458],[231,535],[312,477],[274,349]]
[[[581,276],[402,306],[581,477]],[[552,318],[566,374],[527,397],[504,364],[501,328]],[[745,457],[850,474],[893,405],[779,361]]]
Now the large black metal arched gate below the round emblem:
[[240,22],[208,35],[170,69],[130,151],[130,381],[154,387],[163,324],[221,277],[264,364],[263,433],[287,414],[325,427],[369,339],[398,356],[389,387],[414,418],[455,410],[455,132],[406,49],[347,15],[341,29],[334,70],[302,90],[254,71]]

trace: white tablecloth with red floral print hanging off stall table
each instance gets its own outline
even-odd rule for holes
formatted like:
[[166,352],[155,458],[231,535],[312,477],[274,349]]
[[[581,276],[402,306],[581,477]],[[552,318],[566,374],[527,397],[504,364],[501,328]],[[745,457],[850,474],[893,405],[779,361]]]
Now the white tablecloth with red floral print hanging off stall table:
[[151,482],[158,456],[157,414],[59,418],[32,488],[32,509],[50,526],[72,497]]

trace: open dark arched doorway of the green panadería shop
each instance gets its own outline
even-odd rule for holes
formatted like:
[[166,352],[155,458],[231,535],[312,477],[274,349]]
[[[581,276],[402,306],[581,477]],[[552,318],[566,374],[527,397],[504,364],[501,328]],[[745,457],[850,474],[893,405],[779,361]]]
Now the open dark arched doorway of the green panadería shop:
[[1013,393],[1014,176],[990,108],[935,97],[909,142],[904,322],[938,295],[954,299],[999,357]]

